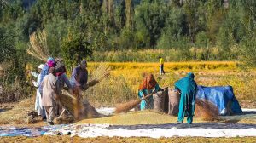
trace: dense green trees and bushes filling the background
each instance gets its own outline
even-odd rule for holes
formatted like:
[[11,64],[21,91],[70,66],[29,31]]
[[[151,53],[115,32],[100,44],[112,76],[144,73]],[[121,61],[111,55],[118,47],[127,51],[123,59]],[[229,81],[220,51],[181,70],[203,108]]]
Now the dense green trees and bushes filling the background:
[[24,51],[32,32],[44,30],[50,53],[70,62],[78,60],[73,55],[81,49],[76,39],[68,38],[78,37],[87,51],[80,59],[90,51],[90,60],[96,60],[93,52],[168,49],[179,53],[172,60],[245,60],[256,65],[255,17],[253,0],[1,1],[1,50]]

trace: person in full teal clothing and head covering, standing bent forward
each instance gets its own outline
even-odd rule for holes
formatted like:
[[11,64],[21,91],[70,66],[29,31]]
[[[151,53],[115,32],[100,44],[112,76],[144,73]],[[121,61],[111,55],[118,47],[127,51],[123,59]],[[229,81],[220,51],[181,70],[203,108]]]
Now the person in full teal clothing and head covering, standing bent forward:
[[193,122],[197,88],[194,77],[194,74],[189,72],[186,77],[183,77],[175,83],[175,89],[178,89],[181,92],[177,123],[183,123],[185,113],[188,115],[187,122],[189,124]]

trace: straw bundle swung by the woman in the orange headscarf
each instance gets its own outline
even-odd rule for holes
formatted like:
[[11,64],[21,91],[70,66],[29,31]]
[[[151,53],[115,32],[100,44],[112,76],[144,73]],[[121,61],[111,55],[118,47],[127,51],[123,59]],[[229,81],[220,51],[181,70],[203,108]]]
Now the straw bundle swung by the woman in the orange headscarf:
[[[144,99],[148,99],[148,97],[152,96],[152,94],[147,94],[145,96]],[[139,103],[141,103],[143,99],[139,99],[139,100],[131,100],[129,102],[126,103],[121,103],[118,106],[116,106],[115,111],[116,113],[120,113],[120,112],[128,112],[130,111],[132,108],[136,107]]]

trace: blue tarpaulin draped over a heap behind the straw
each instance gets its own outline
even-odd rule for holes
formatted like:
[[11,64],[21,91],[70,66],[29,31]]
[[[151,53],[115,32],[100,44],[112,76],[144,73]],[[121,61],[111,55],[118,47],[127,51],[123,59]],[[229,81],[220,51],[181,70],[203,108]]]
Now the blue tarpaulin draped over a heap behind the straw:
[[233,93],[231,86],[205,87],[198,86],[196,99],[204,99],[211,101],[218,107],[220,115],[241,114],[241,106],[239,105]]

